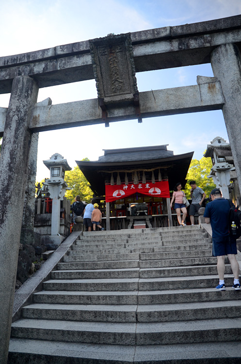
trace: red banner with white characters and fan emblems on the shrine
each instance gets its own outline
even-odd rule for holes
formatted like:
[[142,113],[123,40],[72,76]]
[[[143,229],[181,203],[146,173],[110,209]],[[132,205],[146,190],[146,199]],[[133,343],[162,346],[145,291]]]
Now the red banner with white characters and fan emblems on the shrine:
[[156,183],[138,183],[138,184],[106,184],[105,186],[105,200],[112,202],[116,199],[124,199],[134,193],[141,193],[142,195],[155,196],[155,197],[170,197],[168,181],[161,181]]

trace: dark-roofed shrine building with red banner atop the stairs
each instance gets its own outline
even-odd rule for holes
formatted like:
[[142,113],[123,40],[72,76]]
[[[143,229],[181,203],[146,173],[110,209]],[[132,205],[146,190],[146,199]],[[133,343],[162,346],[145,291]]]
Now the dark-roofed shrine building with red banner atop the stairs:
[[104,149],[97,161],[76,161],[106,230],[177,225],[170,191],[177,182],[185,187],[193,152],[174,155],[167,146]]

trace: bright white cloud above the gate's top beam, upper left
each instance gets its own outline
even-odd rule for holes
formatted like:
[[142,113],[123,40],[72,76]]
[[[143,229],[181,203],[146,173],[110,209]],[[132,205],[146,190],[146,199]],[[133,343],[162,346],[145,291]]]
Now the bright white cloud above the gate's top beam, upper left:
[[9,0],[1,4],[0,56],[153,27],[117,0]]

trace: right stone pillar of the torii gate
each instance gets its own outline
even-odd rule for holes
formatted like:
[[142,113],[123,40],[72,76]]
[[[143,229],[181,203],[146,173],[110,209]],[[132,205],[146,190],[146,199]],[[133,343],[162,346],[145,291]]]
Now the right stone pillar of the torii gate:
[[213,74],[221,83],[225,104],[223,114],[241,191],[241,56],[234,44],[212,51]]

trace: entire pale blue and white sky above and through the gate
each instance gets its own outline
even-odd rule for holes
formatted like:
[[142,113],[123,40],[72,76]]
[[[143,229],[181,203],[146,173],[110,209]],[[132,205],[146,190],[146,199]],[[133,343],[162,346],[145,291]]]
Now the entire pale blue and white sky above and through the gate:
[[[175,26],[241,14],[241,0],[0,0],[0,56],[7,56],[86,39],[108,33],[128,33]],[[213,76],[209,64],[137,73],[139,91],[196,84],[196,76]],[[39,90],[38,101],[53,104],[96,98],[95,81]],[[0,95],[0,107],[9,95]],[[102,149],[169,144],[175,154],[194,151],[200,159],[215,137],[227,140],[221,111],[162,116],[88,127],[41,132],[37,180],[49,177],[43,160],[58,152],[71,167],[75,160],[97,160]]]

